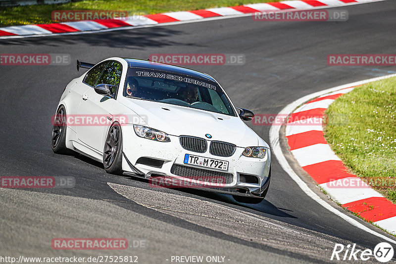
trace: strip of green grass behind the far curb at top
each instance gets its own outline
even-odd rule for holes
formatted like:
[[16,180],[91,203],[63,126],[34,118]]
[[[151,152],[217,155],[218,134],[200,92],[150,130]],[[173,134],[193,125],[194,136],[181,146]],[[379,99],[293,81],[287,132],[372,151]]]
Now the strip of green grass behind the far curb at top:
[[53,23],[53,10],[125,10],[130,15],[145,15],[277,1],[280,0],[86,0],[64,4],[0,7],[0,26]]

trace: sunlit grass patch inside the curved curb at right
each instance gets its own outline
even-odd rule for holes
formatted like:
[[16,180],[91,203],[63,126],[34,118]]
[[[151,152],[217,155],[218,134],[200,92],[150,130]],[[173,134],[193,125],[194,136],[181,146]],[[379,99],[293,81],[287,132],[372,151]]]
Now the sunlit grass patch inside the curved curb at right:
[[324,134],[334,152],[352,173],[396,203],[396,78],[355,88],[325,113]]

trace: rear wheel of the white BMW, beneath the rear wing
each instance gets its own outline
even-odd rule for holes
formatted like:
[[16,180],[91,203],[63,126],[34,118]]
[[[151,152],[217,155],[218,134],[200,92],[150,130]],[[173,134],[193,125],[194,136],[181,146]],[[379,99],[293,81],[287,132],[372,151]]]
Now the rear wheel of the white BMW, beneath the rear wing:
[[56,111],[53,120],[52,134],[51,134],[51,148],[57,154],[70,154],[71,150],[66,148],[66,109],[63,105]]

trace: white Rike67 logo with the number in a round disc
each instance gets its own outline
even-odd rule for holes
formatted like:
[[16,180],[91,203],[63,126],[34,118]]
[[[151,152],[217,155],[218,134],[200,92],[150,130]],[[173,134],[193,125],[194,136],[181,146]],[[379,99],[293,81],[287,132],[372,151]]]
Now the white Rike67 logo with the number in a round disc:
[[336,244],[331,254],[330,260],[337,261],[352,261],[352,260],[362,260],[368,261],[372,257],[375,257],[377,261],[386,263],[392,260],[394,255],[393,247],[387,242],[381,242],[375,246],[374,251],[371,249],[356,249],[356,244],[352,246],[348,244],[344,246],[343,244]]

